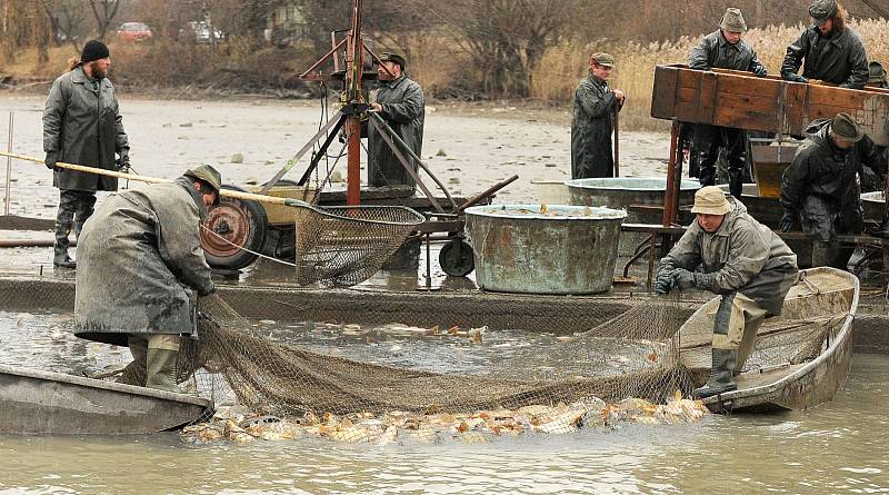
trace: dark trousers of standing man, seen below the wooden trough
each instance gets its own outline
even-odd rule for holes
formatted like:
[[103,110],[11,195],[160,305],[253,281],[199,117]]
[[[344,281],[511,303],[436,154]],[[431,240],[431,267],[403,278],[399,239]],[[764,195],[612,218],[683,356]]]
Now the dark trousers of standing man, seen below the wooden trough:
[[741,199],[743,172],[747,165],[746,131],[701,123],[696,126],[693,149],[698,152],[700,160],[701,186],[716,185],[716,164],[721,148],[726,149],[726,161],[729,167],[729,192],[737,199]]

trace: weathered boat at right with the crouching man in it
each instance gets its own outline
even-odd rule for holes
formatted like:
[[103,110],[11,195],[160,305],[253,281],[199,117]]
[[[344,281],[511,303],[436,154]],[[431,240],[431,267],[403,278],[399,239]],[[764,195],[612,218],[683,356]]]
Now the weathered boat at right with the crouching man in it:
[[[738,389],[705,399],[713,412],[805,409],[829,402],[846,383],[852,357],[858,278],[835,268],[800,273],[783,313],[766,319],[755,349],[736,376]],[[710,375],[713,315],[719,298],[682,325],[680,362],[700,383]]]

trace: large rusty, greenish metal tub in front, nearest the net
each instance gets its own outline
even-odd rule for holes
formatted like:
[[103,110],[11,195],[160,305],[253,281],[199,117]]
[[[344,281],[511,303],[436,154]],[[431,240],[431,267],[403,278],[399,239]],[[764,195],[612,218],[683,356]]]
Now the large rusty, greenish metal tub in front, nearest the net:
[[612,208],[487,205],[466,210],[476,281],[487,290],[596,294],[611,288],[627,212]]

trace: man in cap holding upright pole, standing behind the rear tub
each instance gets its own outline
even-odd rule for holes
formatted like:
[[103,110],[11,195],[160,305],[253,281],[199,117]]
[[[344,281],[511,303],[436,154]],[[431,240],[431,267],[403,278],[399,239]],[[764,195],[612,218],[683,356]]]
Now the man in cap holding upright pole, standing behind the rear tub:
[[575,90],[571,112],[571,178],[615,177],[611,133],[615,112],[623,108],[623,91],[608,87],[615,57],[590,56],[590,73]]

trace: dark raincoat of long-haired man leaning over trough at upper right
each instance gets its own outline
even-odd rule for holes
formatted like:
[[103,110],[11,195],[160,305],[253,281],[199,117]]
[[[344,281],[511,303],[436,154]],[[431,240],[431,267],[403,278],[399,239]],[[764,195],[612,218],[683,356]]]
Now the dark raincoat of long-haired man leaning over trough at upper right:
[[[803,65],[803,59],[806,59]],[[861,89],[868,82],[868,56],[853,30],[825,38],[818,26],[808,27],[799,39],[787,47],[781,76],[796,75],[802,65],[802,77],[820,79],[840,88]]]

